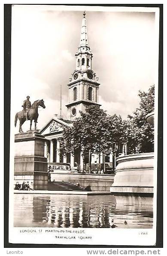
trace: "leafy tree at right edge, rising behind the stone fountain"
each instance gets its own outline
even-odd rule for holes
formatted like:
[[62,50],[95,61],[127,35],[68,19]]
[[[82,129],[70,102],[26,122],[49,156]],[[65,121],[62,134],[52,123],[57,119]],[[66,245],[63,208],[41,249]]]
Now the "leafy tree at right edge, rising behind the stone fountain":
[[139,91],[140,106],[133,115],[128,116],[124,140],[127,142],[129,153],[145,153],[154,151],[154,128],[146,122],[146,115],[154,111],[154,85],[149,91]]

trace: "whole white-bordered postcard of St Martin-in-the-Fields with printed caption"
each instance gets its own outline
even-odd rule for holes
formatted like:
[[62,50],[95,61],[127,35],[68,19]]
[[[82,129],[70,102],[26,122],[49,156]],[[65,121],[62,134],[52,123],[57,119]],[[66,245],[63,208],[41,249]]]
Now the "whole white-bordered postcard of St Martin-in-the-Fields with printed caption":
[[14,4],[11,23],[9,242],[154,245],[159,8]]

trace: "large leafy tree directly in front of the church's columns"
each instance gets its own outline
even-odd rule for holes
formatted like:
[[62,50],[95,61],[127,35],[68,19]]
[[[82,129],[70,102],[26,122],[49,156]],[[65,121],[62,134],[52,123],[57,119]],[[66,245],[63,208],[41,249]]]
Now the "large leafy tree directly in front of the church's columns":
[[72,127],[64,128],[60,151],[65,155],[74,154],[76,150],[82,154],[90,152],[91,167],[92,154],[109,154],[115,150],[115,142],[124,139],[123,127],[121,116],[109,116],[99,106],[91,105],[85,113],[80,111],[80,117],[73,121]]

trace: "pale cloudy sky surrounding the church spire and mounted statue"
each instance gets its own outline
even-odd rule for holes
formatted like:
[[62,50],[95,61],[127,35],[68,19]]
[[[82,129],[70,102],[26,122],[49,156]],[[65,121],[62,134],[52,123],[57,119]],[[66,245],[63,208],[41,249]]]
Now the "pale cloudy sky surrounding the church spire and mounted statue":
[[[62,114],[67,118],[67,84],[75,70],[84,9],[101,108],[125,119],[139,105],[138,91],[155,83],[154,12],[74,7],[12,6],[11,118],[22,110],[27,95],[31,103],[44,99],[46,108],[39,109],[37,123],[41,129],[60,114],[60,85]],[[23,130],[28,126],[24,123]]]

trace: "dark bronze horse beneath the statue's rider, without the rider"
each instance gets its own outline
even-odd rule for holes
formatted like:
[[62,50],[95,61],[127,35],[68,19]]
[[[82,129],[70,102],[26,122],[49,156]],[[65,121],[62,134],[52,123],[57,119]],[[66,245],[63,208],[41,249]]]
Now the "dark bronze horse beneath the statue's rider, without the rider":
[[[35,130],[36,130],[36,123],[38,119],[38,107],[41,106],[42,108],[45,108],[44,101],[43,99],[41,100],[36,100],[33,102],[32,107],[29,110],[29,115],[28,115],[28,120],[30,120],[30,131],[31,131],[31,126],[32,126],[32,121],[34,120],[35,123]],[[24,116],[24,109],[15,115],[15,126],[17,123],[17,119],[20,120],[20,126],[19,126],[19,133],[23,133],[23,130],[21,128],[22,124],[25,122],[26,117]]]

